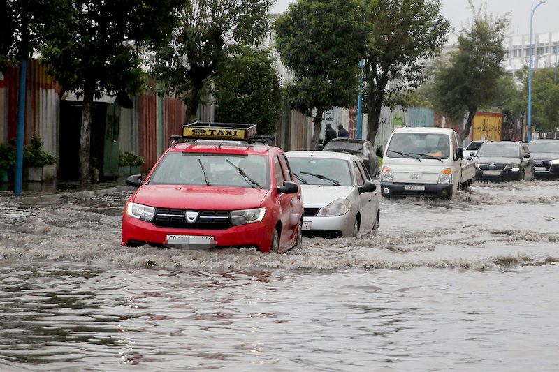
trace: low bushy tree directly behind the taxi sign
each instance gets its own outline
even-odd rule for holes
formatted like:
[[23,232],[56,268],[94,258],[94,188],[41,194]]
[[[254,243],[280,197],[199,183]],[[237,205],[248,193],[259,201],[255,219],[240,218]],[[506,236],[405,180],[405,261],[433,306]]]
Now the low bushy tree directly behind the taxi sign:
[[243,48],[222,64],[215,78],[217,121],[257,123],[272,135],[282,114],[282,87],[270,50]]

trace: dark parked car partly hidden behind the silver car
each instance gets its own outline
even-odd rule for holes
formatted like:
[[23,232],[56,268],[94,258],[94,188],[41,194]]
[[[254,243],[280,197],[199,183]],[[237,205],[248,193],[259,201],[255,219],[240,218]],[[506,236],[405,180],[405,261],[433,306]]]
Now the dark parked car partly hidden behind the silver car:
[[377,156],[382,155],[382,148],[377,149],[368,140],[356,140],[355,138],[335,137],[324,146],[323,151],[346,152],[354,154],[365,163],[371,177],[379,174],[379,160]]

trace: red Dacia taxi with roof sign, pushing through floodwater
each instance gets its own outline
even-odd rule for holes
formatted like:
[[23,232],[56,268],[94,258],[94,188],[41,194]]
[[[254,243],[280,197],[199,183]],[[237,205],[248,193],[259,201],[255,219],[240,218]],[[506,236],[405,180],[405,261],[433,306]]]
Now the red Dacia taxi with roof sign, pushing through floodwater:
[[[284,151],[250,142],[254,134],[249,124],[185,124],[145,180],[126,180],[138,190],[124,207],[122,245],[275,253],[300,246],[300,186]],[[182,138],[190,140],[176,143]]]

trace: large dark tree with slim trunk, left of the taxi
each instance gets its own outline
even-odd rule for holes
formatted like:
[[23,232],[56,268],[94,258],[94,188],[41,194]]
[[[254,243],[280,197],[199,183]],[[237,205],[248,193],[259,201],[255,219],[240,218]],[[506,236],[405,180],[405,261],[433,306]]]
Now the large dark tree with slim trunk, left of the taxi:
[[[136,93],[143,84],[142,54],[166,40],[182,0],[55,0],[45,44],[48,71],[83,99],[80,181],[89,184],[91,108],[94,97]],[[52,15],[56,15],[52,17]]]

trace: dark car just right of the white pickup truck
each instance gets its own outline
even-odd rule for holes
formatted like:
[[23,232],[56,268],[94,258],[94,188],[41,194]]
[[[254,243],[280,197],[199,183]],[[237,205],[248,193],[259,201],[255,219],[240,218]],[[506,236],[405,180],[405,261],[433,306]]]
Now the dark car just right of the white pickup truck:
[[534,159],[524,142],[486,142],[474,158],[477,181],[534,179]]

